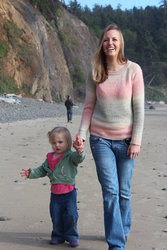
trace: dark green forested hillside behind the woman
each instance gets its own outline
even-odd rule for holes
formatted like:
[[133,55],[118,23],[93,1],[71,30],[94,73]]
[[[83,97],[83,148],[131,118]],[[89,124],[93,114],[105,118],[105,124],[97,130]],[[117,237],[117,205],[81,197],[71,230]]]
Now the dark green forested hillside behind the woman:
[[[112,4],[112,3],[111,3]],[[123,31],[125,55],[140,64],[146,85],[146,99],[167,101],[167,1],[159,7],[134,7],[121,10],[111,5],[96,4],[92,10],[76,1],[70,1],[67,9],[80,18],[97,37],[114,22]],[[161,92],[161,89],[165,90]]]

